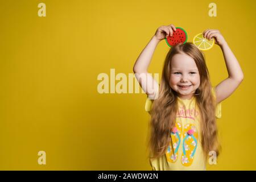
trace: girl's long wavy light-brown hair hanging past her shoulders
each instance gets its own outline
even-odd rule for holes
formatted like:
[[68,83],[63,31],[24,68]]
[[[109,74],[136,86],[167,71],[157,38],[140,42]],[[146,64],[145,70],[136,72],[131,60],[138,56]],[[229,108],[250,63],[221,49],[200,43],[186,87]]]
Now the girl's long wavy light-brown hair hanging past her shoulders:
[[177,93],[169,84],[171,76],[171,60],[177,53],[185,53],[195,60],[200,75],[200,86],[195,94],[196,104],[200,111],[201,146],[205,159],[209,151],[219,154],[218,132],[216,125],[216,102],[212,96],[209,72],[203,53],[192,43],[177,44],[168,51],[164,61],[162,79],[160,81],[159,96],[154,100],[150,111],[150,135],[148,148],[150,158],[155,159],[166,153],[170,144],[170,131],[175,126],[177,113]]

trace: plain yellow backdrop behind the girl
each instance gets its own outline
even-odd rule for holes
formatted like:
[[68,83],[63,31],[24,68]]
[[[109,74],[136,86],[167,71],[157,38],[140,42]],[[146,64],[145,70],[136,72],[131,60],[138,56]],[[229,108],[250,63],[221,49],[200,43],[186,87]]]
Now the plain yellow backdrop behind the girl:
[[[38,4],[46,3],[46,17]],[[156,29],[174,24],[188,42],[218,29],[245,78],[222,102],[222,153],[209,170],[256,169],[255,1],[1,1],[0,169],[150,170],[146,94],[99,94],[100,73],[133,73]],[[169,47],[156,48],[150,72]],[[228,76],[220,47],[205,52],[213,85]],[[159,75],[159,77],[161,74]],[[38,151],[46,151],[46,165]]]

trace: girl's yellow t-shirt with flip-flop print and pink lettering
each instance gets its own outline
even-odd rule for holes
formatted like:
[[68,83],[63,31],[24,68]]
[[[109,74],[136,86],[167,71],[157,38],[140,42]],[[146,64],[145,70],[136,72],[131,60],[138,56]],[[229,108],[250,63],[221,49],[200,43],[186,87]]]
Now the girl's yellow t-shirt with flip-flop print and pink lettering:
[[[212,88],[216,99],[216,87]],[[170,145],[166,154],[150,160],[154,171],[205,170],[206,161],[201,147],[200,112],[195,96],[191,100],[178,98],[175,128],[170,132]],[[152,101],[147,97],[145,110],[151,110]],[[216,117],[221,118],[221,103],[217,104]]]

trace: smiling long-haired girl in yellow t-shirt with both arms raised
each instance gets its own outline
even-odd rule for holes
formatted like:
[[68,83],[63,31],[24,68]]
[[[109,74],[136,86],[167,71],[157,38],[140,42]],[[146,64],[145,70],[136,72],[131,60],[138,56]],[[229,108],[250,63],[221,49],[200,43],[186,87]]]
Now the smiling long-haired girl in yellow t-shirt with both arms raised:
[[159,27],[133,68],[148,96],[150,164],[153,170],[205,170],[207,157],[217,156],[220,150],[216,125],[216,117],[221,117],[220,102],[237,89],[243,72],[220,31],[207,29],[204,38],[214,38],[220,46],[228,78],[212,87],[203,53],[185,43],[167,53],[158,86],[147,69],[158,43],[174,31],[172,24]]

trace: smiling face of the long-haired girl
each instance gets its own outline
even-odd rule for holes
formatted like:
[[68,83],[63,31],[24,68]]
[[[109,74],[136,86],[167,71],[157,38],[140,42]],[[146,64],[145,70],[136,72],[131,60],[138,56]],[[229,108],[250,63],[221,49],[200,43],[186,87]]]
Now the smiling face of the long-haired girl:
[[185,53],[172,57],[170,86],[183,100],[191,99],[200,85],[200,75],[195,60]]

